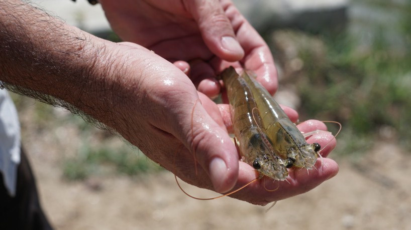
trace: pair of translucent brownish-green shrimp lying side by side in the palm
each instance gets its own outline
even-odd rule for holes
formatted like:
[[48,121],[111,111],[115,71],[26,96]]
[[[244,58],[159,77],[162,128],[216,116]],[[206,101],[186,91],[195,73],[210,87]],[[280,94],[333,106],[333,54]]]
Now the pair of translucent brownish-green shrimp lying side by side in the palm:
[[312,169],[319,157],[320,144],[307,143],[268,91],[246,71],[240,76],[230,67],[221,76],[244,161],[275,180],[287,177],[286,168]]

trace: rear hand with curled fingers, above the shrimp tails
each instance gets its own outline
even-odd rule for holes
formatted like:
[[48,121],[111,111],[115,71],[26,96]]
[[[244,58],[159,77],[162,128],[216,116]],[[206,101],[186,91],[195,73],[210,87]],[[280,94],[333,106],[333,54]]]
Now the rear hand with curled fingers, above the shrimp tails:
[[[213,98],[226,67],[244,67],[273,94],[277,75],[271,52],[229,0],[100,0],[113,30],[186,69],[197,90]],[[236,62],[236,63],[227,63]]]

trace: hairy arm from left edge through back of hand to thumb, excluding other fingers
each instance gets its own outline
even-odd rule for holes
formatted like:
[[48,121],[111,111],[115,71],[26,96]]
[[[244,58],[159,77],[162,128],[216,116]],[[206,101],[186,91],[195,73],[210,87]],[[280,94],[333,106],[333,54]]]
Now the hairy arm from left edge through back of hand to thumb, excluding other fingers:
[[[224,124],[215,121],[221,115],[211,118],[202,105],[193,111],[197,91],[172,63],[136,44],[98,39],[18,0],[0,0],[0,36],[0,81],[7,89],[111,127],[193,185],[234,186],[238,156]],[[203,168],[197,178],[192,149]]]

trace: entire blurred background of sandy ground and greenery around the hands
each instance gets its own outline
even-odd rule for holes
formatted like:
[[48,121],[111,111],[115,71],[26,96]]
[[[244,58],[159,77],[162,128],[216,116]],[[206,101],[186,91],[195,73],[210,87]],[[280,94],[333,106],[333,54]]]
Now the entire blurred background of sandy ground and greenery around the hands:
[[[33,2],[120,41],[99,5]],[[232,198],[194,200],[170,172],[118,137],[14,94],[23,144],[56,229],[411,229],[411,1],[234,3],[272,50],[280,83],[275,98],[301,121],[342,123],[330,155],[339,174],[267,213]]]

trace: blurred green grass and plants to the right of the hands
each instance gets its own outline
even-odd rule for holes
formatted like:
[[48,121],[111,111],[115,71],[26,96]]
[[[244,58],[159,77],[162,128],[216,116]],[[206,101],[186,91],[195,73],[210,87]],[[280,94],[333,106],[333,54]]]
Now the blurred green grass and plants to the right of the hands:
[[[339,152],[362,153],[383,140],[411,149],[411,1],[358,3],[369,12],[338,34],[274,32],[272,49],[283,50],[286,75],[280,87],[296,86],[302,120],[343,124]],[[389,20],[373,20],[373,11]],[[284,57],[284,44],[296,50],[293,57]],[[295,59],[302,68],[287,71]]]

